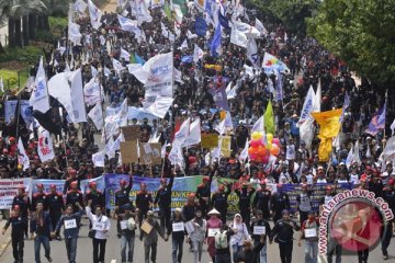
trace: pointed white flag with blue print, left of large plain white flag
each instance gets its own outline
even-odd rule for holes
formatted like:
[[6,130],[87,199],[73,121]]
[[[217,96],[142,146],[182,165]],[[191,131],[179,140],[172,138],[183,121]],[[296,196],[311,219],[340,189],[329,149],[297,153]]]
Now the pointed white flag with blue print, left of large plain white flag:
[[40,59],[38,70],[34,81],[34,89],[30,99],[30,104],[33,106],[33,111],[38,111],[42,113],[49,111],[49,95],[45,70],[43,67],[43,57]]

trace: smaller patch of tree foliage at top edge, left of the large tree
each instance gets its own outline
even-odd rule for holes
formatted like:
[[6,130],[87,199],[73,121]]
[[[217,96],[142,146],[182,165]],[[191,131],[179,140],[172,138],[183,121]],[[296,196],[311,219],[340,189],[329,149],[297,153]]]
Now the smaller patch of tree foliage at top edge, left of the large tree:
[[318,8],[317,0],[251,0],[259,13],[269,19],[280,20],[292,33],[305,35],[306,18],[311,18]]

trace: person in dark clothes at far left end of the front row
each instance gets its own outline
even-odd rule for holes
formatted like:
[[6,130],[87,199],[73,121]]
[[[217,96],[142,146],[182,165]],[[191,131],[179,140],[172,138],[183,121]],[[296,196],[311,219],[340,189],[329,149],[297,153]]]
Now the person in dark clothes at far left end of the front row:
[[4,235],[10,226],[12,226],[11,243],[14,263],[23,263],[23,233],[27,226],[27,218],[22,217],[21,208],[19,205],[14,205],[11,211],[11,216],[7,220],[4,228],[1,230],[1,233]]

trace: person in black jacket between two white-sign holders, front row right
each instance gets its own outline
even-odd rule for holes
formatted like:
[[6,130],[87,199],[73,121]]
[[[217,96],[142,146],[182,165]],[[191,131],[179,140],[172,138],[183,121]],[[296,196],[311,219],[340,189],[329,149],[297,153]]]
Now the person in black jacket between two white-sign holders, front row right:
[[289,210],[283,210],[282,215],[283,217],[273,227],[270,240],[274,240],[279,244],[281,263],[291,263],[293,231],[297,231],[300,228],[296,222],[291,220]]

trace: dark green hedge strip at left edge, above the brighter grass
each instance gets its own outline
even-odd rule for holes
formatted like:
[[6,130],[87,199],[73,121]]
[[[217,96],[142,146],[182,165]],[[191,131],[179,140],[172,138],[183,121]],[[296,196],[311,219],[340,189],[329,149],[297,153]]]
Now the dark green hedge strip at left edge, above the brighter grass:
[[0,62],[20,61],[23,64],[36,64],[42,53],[40,47],[26,46],[24,48],[4,48],[5,53],[0,55]]

